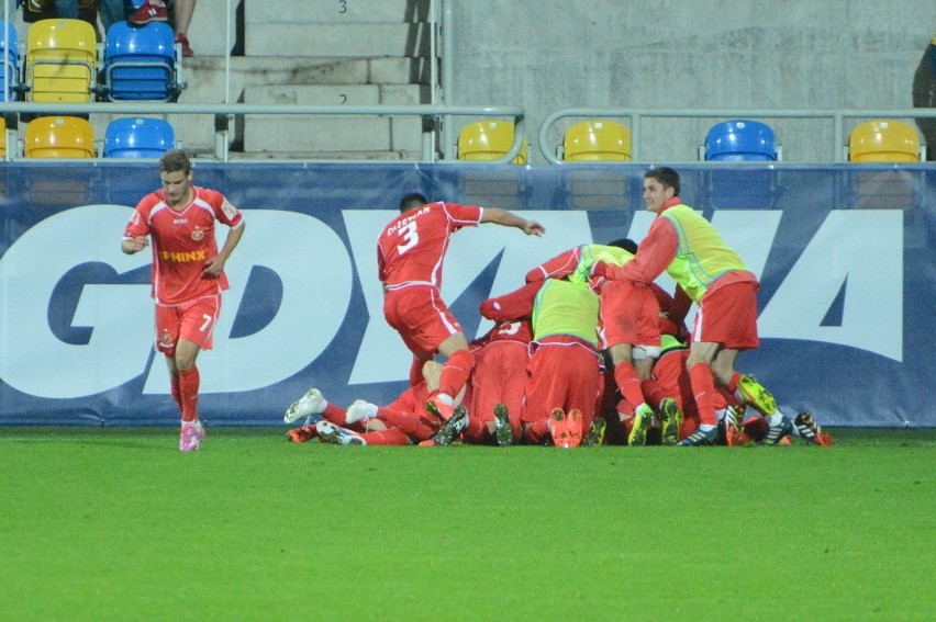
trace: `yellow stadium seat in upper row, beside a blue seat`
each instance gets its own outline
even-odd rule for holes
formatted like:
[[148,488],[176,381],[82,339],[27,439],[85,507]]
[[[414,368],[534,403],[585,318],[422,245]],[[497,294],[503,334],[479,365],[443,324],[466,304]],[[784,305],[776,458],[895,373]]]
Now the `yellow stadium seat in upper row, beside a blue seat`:
[[34,102],[89,102],[97,82],[98,42],[83,20],[40,20],[26,44],[26,99]]

